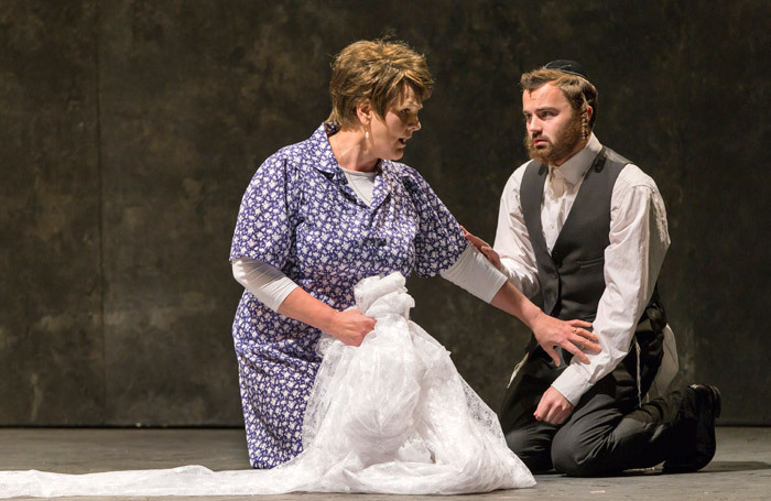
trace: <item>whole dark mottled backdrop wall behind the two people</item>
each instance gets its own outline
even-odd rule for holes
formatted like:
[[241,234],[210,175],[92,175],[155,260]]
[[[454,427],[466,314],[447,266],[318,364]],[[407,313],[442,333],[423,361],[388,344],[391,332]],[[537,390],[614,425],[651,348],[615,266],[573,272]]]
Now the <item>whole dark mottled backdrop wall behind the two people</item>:
[[[436,77],[405,162],[492,238],[519,76],[580,61],[596,132],[659,183],[681,382],[771,424],[763,1],[0,4],[0,425],[238,425],[227,255],[254,163],[328,113],[332,56],[394,34]],[[439,279],[413,317],[492,406],[528,338]]]

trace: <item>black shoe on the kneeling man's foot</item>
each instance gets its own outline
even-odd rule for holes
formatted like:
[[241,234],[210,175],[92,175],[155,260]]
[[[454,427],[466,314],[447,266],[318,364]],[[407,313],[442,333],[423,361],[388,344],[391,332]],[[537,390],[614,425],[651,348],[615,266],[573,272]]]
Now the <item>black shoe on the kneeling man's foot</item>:
[[720,417],[720,391],[707,384],[692,384],[691,389],[696,394],[696,450],[664,461],[665,473],[698,471],[715,457],[715,418]]

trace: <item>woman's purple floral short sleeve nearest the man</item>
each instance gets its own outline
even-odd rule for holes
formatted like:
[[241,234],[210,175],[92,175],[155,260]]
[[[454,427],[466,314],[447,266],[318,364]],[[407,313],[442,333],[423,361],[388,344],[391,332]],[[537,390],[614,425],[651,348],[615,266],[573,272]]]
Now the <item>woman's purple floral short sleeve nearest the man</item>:
[[419,217],[419,229],[413,242],[415,273],[422,277],[435,276],[455,264],[466,249],[460,225],[442,203],[428,183],[413,168],[406,167],[406,187]]

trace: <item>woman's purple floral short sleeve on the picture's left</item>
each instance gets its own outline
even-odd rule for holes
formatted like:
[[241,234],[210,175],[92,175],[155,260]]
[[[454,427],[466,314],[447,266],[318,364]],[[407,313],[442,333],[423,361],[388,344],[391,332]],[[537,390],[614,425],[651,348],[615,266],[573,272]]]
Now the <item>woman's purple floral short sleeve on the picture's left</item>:
[[249,183],[238,211],[230,261],[250,258],[282,269],[295,219],[294,173],[281,152],[269,157]]

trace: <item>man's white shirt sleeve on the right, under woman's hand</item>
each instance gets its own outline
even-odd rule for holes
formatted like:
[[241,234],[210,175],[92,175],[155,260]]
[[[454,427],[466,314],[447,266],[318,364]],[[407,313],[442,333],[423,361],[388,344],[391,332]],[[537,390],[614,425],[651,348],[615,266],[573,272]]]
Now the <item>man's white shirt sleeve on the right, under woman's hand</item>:
[[670,246],[661,194],[634,165],[627,165],[613,186],[609,237],[605,292],[593,324],[602,351],[587,352],[589,363],[574,357],[552,384],[574,405],[629,353]]

